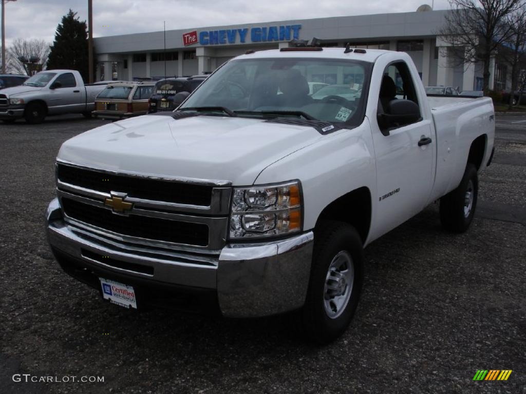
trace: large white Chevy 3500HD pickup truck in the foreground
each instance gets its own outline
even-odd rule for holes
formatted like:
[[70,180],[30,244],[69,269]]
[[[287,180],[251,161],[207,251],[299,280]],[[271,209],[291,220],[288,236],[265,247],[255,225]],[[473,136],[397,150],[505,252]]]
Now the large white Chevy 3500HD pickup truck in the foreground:
[[[340,95],[313,98],[320,81]],[[66,141],[47,236],[115,304],[298,311],[326,343],[355,312],[365,246],[438,199],[443,226],[468,229],[493,139],[491,99],[428,98],[405,53],[249,51],[175,112]]]

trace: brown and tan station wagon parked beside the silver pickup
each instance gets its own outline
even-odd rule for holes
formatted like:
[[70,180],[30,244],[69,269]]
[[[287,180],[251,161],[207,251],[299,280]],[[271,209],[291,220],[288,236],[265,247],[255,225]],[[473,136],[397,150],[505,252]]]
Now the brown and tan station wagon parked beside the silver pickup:
[[115,82],[108,84],[95,99],[93,116],[129,118],[148,113],[148,99],[154,91],[153,82]]

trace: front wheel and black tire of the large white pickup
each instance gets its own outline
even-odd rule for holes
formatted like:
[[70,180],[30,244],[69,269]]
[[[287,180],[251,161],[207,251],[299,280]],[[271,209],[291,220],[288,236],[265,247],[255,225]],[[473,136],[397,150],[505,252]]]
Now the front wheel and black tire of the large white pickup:
[[[350,257],[351,261],[346,261]],[[327,293],[326,284],[337,284],[335,279],[328,279],[329,268],[333,263],[342,259],[345,264],[353,266],[352,287],[345,285],[349,291],[347,302],[338,310],[332,298]],[[349,269],[349,266],[347,266]],[[341,271],[345,272],[345,270]],[[341,273],[340,272],[340,273]],[[309,288],[305,306],[301,311],[302,328],[307,338],[318,344],[328,344],[338,338],[349,325],[358,306],[363,283],[363,246],[358,232],[347,223],[327,221],[321,223],[315,230],[314,250],[312,253],[312,267]],[[342,286],[344,287],[344,286]],[[342,287],[339,288],[341,291]],[[329,297],[326,297],[329,295]],[[338,297],[345,298],[346,293]],[[341,298],[340,298],[341,299]],[[326,304],[327,303],[327,304]],[[327,307],[326,307],[327,305]],[[333,316],[329,316],[329,312]]]

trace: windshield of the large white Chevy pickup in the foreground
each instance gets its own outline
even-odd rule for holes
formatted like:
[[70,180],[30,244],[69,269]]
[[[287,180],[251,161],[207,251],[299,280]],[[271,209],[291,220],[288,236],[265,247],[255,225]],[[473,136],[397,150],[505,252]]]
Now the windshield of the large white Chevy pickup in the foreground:
[[[338,59],[231,60],[179,110],[221,108],[240,117],[292,116],[359,125],[369,69],[369,63]],[[312,94],[314,83],[323,87]]]

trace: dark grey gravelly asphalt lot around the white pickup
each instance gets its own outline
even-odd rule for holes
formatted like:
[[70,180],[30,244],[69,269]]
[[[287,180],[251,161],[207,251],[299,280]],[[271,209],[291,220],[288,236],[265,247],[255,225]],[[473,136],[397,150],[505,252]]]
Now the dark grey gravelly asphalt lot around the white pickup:
[[[54,158],[106,122],[0,124],[0,393],[526,393],[526,117],[497,117],[467,233],[443,232],[432,204],[366,249],[356,316],[326,347],[288,316],[128,312],[61,271],[43,228]],[[472,381],[478,369],[513,372]]]

